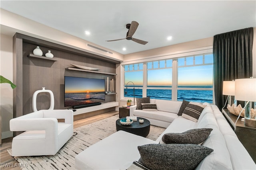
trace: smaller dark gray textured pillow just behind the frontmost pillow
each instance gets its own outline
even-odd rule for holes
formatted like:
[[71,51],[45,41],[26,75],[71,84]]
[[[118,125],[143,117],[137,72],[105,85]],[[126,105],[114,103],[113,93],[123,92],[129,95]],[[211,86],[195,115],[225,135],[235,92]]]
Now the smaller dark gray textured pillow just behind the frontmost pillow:
[[195,144],[201,145],[210,135],[212,129],[190,129],[183,133],[166,133],[162,137],[163,143],[180,143],[180,144]]

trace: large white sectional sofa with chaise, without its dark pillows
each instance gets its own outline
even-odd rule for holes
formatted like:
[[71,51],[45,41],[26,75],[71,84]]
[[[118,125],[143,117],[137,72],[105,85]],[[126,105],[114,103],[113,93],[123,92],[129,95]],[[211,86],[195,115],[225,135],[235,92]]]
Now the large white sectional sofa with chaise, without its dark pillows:
[[136,106],[132,106],[134,108],[130,108],[130,111],[133,115],[150,120],[153,125],[165,127],[169,124],[156,141],[118,131],[78,154],[75,158],[76,169],[127,169],[141,156],[138,146],[161,143],[162,136],[166,133],[182,133],[198,128],[213,129],[202,146],[214,151],[198,164],[197,170],[256,169],[256,164],[217,106],[204,103],[206,106],[198,122],[194,122],[177,115],[182,102],[162,100],[150,100],[150,102],[156,103],[157,109],[160,110],[144,113],[141,110],[136,111],[134,109]]

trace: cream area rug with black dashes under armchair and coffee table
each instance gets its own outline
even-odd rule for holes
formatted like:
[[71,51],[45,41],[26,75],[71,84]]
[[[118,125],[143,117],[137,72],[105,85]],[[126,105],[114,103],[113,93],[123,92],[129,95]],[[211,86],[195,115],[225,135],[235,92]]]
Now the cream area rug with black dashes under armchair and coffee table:
[[[75,156],[94,143],[116,132],[118,115],[96,121],[74,129],[70,140],[52,156],[15,156],[19,164],[26,166],[23,170],[74,170]],[[147,138],[156,140],[165,130],[162,127],[150,126]],[[8,150],[11,154],[12,150]]]

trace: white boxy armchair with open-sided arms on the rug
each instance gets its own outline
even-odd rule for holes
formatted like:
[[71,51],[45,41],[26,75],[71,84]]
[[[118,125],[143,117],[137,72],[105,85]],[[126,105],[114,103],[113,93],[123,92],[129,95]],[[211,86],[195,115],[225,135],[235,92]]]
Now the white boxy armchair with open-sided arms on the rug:
[[[65,119],[58,123],[57,119]],[[40,110],[10,120],[12,156],[54,155],[73,135],[72,110]]]

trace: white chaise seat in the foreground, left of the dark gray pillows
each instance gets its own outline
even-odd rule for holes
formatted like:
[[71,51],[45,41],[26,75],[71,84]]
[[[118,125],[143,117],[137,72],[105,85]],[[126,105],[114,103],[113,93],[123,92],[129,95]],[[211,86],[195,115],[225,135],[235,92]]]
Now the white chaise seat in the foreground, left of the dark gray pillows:
[[158,143],[125,131],[118,131],[95,143],[75,157],[78,170],[127,169],[134,160],[139,160],[138,146]]

